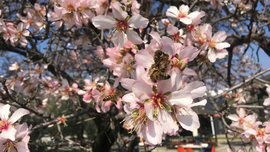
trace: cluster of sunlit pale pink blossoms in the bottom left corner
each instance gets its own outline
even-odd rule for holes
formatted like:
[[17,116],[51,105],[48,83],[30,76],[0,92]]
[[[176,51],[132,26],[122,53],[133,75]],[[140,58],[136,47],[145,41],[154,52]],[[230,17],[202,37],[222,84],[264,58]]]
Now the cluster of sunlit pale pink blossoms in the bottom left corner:
[[9,109],[9,104],[0,104],[0,150],[30,152],[28,149],[30,136],[28,134],[32,126],[28,127],[27,123],[14,126],[16,121],[30,112],[20,108],[9,117]]

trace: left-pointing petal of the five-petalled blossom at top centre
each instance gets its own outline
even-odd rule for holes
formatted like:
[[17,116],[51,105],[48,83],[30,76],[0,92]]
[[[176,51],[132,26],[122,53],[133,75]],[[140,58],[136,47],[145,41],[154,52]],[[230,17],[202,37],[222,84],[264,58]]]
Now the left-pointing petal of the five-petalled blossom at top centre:
[[115,20],[111,16],[97,15],[93,18],[93,25],[98,29],[110,29],[116,25]]

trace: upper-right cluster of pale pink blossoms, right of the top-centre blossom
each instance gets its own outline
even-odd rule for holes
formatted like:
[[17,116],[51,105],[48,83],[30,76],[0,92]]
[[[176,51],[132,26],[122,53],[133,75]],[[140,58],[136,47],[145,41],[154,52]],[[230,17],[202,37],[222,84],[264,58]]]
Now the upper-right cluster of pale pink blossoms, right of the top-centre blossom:
[[218,31],[212,36],[212,26],[210,24],[199,25],[201,18],[205,15],[204,11],[189,13],[187,5],[181,5],[179,9],[170,6],[166,15],[179,19],[180,22],[186,24],[188,29],[187,34],[183,35],[183,29],[178,30],[177,27],[170,24],[170,21],[163,20],[164,23],[166,22],[165,25],[168,25],[168,34],[173,37],[175,42],[182,42],[183,46],[197,46],[201,49],[200,55],[202,59],[207,55],[210,62],[215,62],[217,58],[222,59],[228,55],[225,48],[230,47],[230,44],[223,42],[227,38],[226,32]]

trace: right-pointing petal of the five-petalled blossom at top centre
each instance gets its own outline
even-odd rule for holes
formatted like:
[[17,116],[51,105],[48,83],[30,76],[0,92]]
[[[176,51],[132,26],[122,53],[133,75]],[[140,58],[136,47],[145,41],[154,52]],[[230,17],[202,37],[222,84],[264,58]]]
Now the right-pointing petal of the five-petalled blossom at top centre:
[[149,20],[140,14],[133,15],[127,22],[131,28],[146,28]]

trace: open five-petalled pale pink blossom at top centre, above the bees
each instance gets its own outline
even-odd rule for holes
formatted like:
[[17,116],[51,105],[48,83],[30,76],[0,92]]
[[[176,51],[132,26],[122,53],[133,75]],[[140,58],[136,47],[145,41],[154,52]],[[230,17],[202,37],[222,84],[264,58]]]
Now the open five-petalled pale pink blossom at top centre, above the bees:
[[124,42],[124,32],[126,31],[127,39],[133,44],[141,44],[143,41],[140,36],[131,28],[145,28],[148,24],[148,19],[143,18],[140,14],[133,15],[131,18],[120,7],[119,2],[113,5],[113,15],[115,19],[110,16],[98,15],[93,18],[93,25],[98,29],[114,28],[116,33],[113,36],[113,43],[117,45],[117,50],[122,48]]

